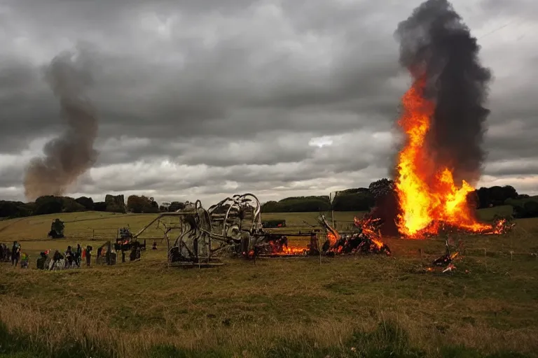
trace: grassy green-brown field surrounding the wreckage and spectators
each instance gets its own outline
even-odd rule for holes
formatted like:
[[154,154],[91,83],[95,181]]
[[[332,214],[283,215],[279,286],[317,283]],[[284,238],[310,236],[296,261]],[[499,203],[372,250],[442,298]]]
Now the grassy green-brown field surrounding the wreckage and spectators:
[[[510,207],[482,210],[483,220]],[[500,211],[499,211],[500,210]],[[504,211],[503,211],[504,210]],[[317,213],[264,215],[310,230]],[[356,213],[336,213],[338,225]],[[153,215],[71,213],[0,221],[0,242],[94,248]],[[67,238],[46,239],[50,221]],[[305,223],[306,222],[306,223]],[[284,231],[284,229],[280,229]],[[538,220],[462,236],[452,273],[427,272],[441,239],[387,238],[392,257],[228,259],[216,268],[142,260],[66,271],[0,264],[0,357],[536,357]],[[146,236],[161,237],[153,228]],[[422,252],[422,254],[420,253]]]

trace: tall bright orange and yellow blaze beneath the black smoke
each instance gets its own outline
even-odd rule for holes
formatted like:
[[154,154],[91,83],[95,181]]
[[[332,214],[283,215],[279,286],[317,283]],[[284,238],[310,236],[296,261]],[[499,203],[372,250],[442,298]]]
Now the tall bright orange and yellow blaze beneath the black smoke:
[[458,187],[448,167],[435,169],[436,163],[425,146],[435,104],[425,99],[424,89],[425,80],[416,80],[402,99],[399,126],[407,135],[407,143],[399,153],[396,178],[401,206],[396,218],[399,232],[421,238],[437,234],[441,224],[473,232],[491,231],[491,225],[476,220],[467,201],[467,194],[474,188],[465,181]]

